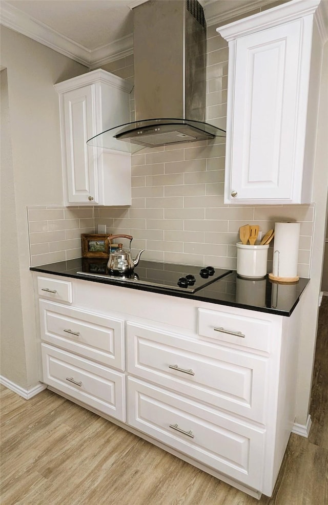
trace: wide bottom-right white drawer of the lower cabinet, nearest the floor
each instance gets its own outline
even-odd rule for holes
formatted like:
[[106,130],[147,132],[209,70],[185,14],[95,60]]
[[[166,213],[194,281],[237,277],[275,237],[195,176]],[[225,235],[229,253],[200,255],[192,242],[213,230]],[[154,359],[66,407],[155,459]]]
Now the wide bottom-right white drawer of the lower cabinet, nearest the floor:
[[128,424],[261,489],[264,430],[132,377],[128,379]]

